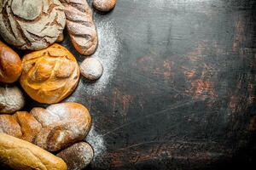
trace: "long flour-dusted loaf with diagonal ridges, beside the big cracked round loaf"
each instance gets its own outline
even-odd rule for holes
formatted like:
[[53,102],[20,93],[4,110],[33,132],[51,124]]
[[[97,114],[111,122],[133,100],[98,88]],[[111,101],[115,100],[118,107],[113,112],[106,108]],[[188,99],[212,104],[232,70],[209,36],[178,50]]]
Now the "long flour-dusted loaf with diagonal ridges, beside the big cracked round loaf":
[[61,0],[65,7],[67,31],[79,54],[90,55],[96,51],[97,33],[92,12],[86,0]]

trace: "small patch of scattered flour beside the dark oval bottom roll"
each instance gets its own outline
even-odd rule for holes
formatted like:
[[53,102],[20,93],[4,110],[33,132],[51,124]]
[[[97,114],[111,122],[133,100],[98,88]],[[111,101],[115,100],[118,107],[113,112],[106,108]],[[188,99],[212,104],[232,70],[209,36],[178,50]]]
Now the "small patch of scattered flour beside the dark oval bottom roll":
[[102,156],[102,154],[106,151],[103,136],[102,134],[96,133],[94,124],[92,124],[90,132],[85,140],[92,146],[94,150],[94,160],[97,156]]

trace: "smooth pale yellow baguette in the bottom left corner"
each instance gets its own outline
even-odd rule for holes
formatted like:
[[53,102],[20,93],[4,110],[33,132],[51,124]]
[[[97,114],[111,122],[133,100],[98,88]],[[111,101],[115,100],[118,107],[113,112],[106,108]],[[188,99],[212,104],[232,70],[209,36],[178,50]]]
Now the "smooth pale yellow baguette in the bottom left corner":
[[0,133],[0,162],[19,170],[67,170],[61,158],[5,133]]

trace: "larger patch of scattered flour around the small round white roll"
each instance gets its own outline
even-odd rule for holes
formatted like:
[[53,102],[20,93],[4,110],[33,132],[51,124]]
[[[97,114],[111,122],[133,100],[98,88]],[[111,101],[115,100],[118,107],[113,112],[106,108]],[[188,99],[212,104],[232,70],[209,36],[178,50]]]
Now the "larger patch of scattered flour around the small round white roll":
[[[117,66],[120,43],[113,22],[111,20],[100,20],[96,22],[96,28],[99,44],[96,53],[91,57],[95,57],[102,62],[104,71],[102,77],[96,82],[86,82],[85,78],[81,77],[79,87],[73,95],[74,98],[79,94],[84,96],[101,94],[113,78],[113,73]],[[68,100],[73,100],[73,98],[71,97]]]

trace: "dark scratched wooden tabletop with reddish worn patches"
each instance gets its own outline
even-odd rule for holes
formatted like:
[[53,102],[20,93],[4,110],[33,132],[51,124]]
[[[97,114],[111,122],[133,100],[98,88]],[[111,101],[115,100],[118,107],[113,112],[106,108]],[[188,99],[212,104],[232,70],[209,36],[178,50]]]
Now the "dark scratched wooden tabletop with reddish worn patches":
[[[105,76],[81,79],[67,99],[93,117],[89,168],[208,169],[252,160],[253,8],[253,0],[118,0],[109,14],[94,11]],[[67,36],[62,44],[84,59]],[[28,99],[26,110],[36,105]]]

